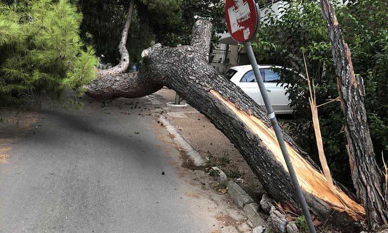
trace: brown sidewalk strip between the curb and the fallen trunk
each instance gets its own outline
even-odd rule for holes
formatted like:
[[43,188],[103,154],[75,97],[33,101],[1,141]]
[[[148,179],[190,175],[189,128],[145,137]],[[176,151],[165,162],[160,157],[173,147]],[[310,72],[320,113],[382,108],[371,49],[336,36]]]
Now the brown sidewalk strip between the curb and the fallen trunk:
[[162,114],[179,130],[179,133],[194,150],[198,151],[205,161],[208,161],[209,166],[220,167],[228,178],[239,183],[251,197],[259,202],[264,193],[262,185],[229,139],[190,105],[168,107],[166,103],[175,100],[174,90],[162,89],[153,96],[159,100]]

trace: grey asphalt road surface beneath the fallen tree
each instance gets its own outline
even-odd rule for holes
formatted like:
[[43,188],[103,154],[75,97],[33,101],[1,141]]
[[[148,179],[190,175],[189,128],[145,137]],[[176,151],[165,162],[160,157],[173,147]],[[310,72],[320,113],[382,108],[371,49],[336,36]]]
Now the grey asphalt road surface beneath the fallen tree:
[[43,108],[12,146],[0,165],[0,232],[209,233],[214,224],[186,201],[179,151],[144,103],[84,101]]

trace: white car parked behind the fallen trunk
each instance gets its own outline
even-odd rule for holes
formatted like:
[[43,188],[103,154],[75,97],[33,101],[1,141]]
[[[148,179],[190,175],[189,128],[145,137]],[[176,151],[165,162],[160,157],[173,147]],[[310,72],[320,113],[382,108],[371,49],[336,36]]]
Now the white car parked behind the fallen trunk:
[[[272,70],[274,66],[259,66],[261,77],[264,80],[265,89],[271,100],[275,114],[292,114],[290,100],[288,94],[282,85],[278,83],[279,75]],[[281,68],[276,67],[275,68]],[[226,73],[226,77],[232,83],[238,85],[250,98],[255,100],[259,105],[264,106],[263,98],[261,97],[258,83],[256,82],[255,74],[251,65],[231,67]]]

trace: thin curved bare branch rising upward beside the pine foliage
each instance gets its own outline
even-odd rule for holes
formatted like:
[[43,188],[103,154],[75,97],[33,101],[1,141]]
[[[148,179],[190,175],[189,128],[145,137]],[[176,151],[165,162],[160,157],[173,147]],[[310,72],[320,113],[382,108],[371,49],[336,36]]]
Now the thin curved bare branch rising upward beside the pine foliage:
[[132,21],[133,4],[134,4],[134,0],[130,0],[127,20],[126,20],[125,25],[124,25],[124,29],[123,29],[120,43],[118,45],[118,50],[119,50],[120,56],[121,56],[120,63],[112,68],[109,68],[109,69],[98,69],[97,70],[97,77],[124,73],[125,71],[127,71],[128,67],[129,67],[129,53],[128,53],[126,44],[127,44],[130,23]]

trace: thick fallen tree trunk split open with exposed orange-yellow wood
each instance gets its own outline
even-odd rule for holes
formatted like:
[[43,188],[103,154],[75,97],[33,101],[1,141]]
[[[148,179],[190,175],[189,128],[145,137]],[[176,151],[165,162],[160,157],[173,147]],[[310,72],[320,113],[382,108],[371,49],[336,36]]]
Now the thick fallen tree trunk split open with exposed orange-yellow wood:
[[[139,75],[109,76],[105,82],[99,79],[86,87],[87,94],[95,98],[136,98],[152,94],[163,85],[174,89],[229,138],[273,198],[298,208],[298,198],[266,111],[211,67],[204,52],[198,51],[205,49],[162,48],[157,44],[143,51]],[[355,230],[365,217],[363,206],[337,186],[330,189],[318,166],[287,133],[283,134],[310,211],[349,232]]]

